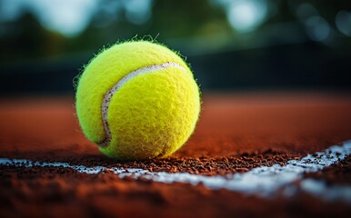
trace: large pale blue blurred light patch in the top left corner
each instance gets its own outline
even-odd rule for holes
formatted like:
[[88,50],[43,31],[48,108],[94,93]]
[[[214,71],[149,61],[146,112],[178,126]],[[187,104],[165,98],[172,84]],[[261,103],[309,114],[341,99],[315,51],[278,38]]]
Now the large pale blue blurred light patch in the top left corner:
[[15,20],[30,12],[45,28],[75,36],[89,25],[97,4],[96,0],[4,0],[0,17]]

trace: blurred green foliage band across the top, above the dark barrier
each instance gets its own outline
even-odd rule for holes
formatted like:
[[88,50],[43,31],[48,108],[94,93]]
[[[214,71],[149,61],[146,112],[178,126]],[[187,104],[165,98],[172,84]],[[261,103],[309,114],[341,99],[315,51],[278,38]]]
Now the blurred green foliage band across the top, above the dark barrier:
[[[256,32],[246,35],[237,33],[228,23],[225,8],[211,0],[156,0],[152,4],[150,19],[142,25],[128,21],[123,10],[111,18],[103,7],[111,2],[112,0],[102,0],[101,8],[97,9],[91,24],[75,37],[65,37],[46,30],[34,15],[28,13],[19,20],[0,23],[5,33],[0,35],[0,62],[96,52],[104,45],[128,40],[135,35],[137,38],[150,35],[151,38],[157,37],[158,41],[169,44],[180,42],[178,44],[198,51],[204,47],[223,50],[243,46],[269,46],[280,42],[289,44],[308,38],[304,25],[296,17],[296,8],[305,3],[302,0],[268,1],[275,10],[270,12]],[[341,9],[351,10],[349,1],[311,0],[308,3],[316,6],[333,30],[336,29],[336,13]],[[329,45],[338,46],[339,49],[350,48],[350,37],[339,37],[340,33],[334,33],[337,40]]]

